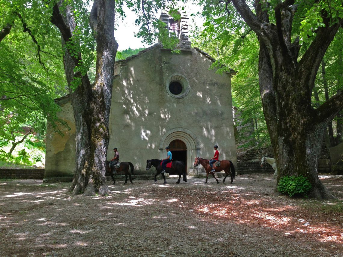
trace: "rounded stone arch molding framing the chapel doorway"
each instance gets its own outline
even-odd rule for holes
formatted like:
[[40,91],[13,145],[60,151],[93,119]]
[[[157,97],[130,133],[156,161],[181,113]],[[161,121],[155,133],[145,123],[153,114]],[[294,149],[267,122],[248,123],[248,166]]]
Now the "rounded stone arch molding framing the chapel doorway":
[[192,168],[193,161],[198,151],[200,149],[200,143],[196,135],[194,135],[190,130],[183,127],[176,127],[174,129],[168,130],[159,142],[159,158],[165,158],[165,147],[169,146],[170,142],[179,139],[185,143],[187,147],[187,167]]

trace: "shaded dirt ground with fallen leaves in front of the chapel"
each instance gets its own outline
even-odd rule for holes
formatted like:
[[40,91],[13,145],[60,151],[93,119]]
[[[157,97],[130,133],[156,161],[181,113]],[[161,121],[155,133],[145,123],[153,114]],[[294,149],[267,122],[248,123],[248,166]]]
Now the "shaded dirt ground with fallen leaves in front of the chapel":
[[343,176],[322,178],[338,197],[324,202],[275,197],[272,174],[188,181],[72,197],[70,183],[2,180],[0,256],[343,256]]

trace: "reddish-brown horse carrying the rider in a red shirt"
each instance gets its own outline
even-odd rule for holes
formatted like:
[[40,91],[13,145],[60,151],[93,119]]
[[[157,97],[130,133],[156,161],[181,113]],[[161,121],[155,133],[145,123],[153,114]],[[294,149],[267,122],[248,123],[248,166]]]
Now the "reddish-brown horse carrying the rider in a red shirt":
[[[202,159],[202,158],[195,158],[194,161],[194,168],[196,168],[199,164],[201,164],[206,171],[206,181],[205,183],[207,183],[207,179],[209,178],[209,173],[211,172],[213,178],[215,178],[215,180],[217,181],[217,183],[219,184],[219,180],[217,180],[217,178],[214,176],[214,171],[211,171],[212,168],[210,166],[209,163],[210,160],[206,160],[206,159]],[[225,178],[223,180],[223,183],[225,182],[226,177],[230,174],[231,177],[231,184],[234,182],[234,178],[236,177],[236,171],[235,171],[235,167],[234,164],[232,163],[232,161],[227,161],[227,160],[222,160],[220,161],[220,166],[219,167],[215,167],[215,165],[213,165],[213,169],[215,169],[215,171],[224,171],[225,172]],[[231,173],[231,171],[232,173]]]

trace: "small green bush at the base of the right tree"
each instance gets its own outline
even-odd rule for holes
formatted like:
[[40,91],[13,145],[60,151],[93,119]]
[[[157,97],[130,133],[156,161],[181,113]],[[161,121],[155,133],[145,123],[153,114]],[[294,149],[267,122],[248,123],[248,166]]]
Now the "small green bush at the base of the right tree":
[[290,197],[294,195],[302,195],[307,197],[307,193],[312,188],[311,183],[303,176],[284,176],[280,179],[277,185],[277,190],[280,193],[288,194]]

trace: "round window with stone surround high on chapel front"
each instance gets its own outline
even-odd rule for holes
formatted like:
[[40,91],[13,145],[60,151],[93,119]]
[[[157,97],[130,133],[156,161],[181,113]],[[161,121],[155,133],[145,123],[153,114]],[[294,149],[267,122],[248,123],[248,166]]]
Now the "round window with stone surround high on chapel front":
[[173,74],[166,81],[166,90],[172,97],[185,97],[190,90],[188,79],[181,74]]

